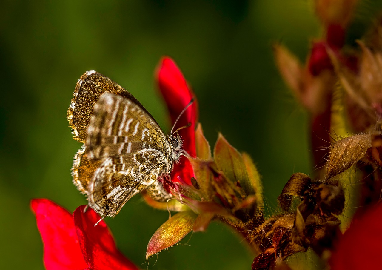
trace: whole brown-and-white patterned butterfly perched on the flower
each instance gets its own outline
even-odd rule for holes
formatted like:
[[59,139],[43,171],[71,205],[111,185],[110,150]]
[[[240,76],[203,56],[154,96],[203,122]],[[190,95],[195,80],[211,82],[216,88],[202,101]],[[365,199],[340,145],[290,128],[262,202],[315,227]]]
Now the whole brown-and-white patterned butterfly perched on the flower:
[[87,195],[89,207],[115,216],[142,190],[154,200],[172,198],[157,178],[169,176],[173,164],[187,155],[173,132],[177,121],[166,136],[132,94],[94,70],[77,81],[67,118],[73,138],[83,143],[74,156],[73,183]]

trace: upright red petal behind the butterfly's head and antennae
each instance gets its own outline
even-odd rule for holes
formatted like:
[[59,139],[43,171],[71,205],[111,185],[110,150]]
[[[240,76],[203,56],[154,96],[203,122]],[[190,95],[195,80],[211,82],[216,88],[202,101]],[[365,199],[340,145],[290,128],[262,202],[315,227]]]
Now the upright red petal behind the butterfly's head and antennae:
[[[157,68],[156,77],[159,83],[159,89],[166,101],[168,111],[170,112],[172,123],[178,118],[179,114],[186,105],[195,98],[191,88],[189,88],[181,71],[175,62],[169,57],[163,57]],[[184,112],[176,124],[176,128],[190,124],[188,128],[179,130],[183,139],[183,149],[195,157],[195,123],[197,122],[197,101]],[[171,180],[174,182],[186,182],[191,185],[191,177],[194,176],[193,169],[187,158],[182,158],[179,164],[174,166],[171,173]]]

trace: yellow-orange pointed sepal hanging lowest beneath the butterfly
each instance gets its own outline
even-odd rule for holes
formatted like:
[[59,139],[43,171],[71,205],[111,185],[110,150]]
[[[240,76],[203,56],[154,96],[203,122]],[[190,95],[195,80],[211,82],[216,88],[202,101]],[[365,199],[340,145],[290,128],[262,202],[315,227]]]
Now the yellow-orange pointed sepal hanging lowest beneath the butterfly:
[[163,223],[147,245],[146,259],[181,241],[192,231],[196,217],[193,211],[179,212]]

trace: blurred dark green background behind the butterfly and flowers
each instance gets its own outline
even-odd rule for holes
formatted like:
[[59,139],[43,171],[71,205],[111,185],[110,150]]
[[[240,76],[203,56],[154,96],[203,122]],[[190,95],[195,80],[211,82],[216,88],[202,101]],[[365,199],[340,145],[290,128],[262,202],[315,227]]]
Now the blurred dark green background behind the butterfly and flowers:
[[[361,4],[349,40],[361,36],[380,7]],[[311,0],[8,0],[0,29],[2,269],[43,268],[31,198],[49,198],[70,211],[86,203],[71,181],[81,144],[71,137],[66,110],[87,70],[126,88],[169,130],[153,73],[162,55],[173,57],[197,95],[210,144],[222,132],[253,157],[270,211],[291,174],[311,172],[308,115],[272,56],[272,43],[281,41],[304,61],[308,40],[321,31]],[[147,242],[167,218],[138,195],[106,222],[120,250],[143,269],[250,268],[253,255],[217,222],[147,262]]]

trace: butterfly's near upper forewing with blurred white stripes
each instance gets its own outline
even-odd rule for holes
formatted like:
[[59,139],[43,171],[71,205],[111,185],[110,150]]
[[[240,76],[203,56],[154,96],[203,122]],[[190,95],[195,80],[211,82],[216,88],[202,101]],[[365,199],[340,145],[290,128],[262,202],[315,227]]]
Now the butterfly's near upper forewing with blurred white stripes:
[[104,93],[94,106],[86,146],[91,159],[155,149],[167,157],[170,146],[159,125],[129,99]]

